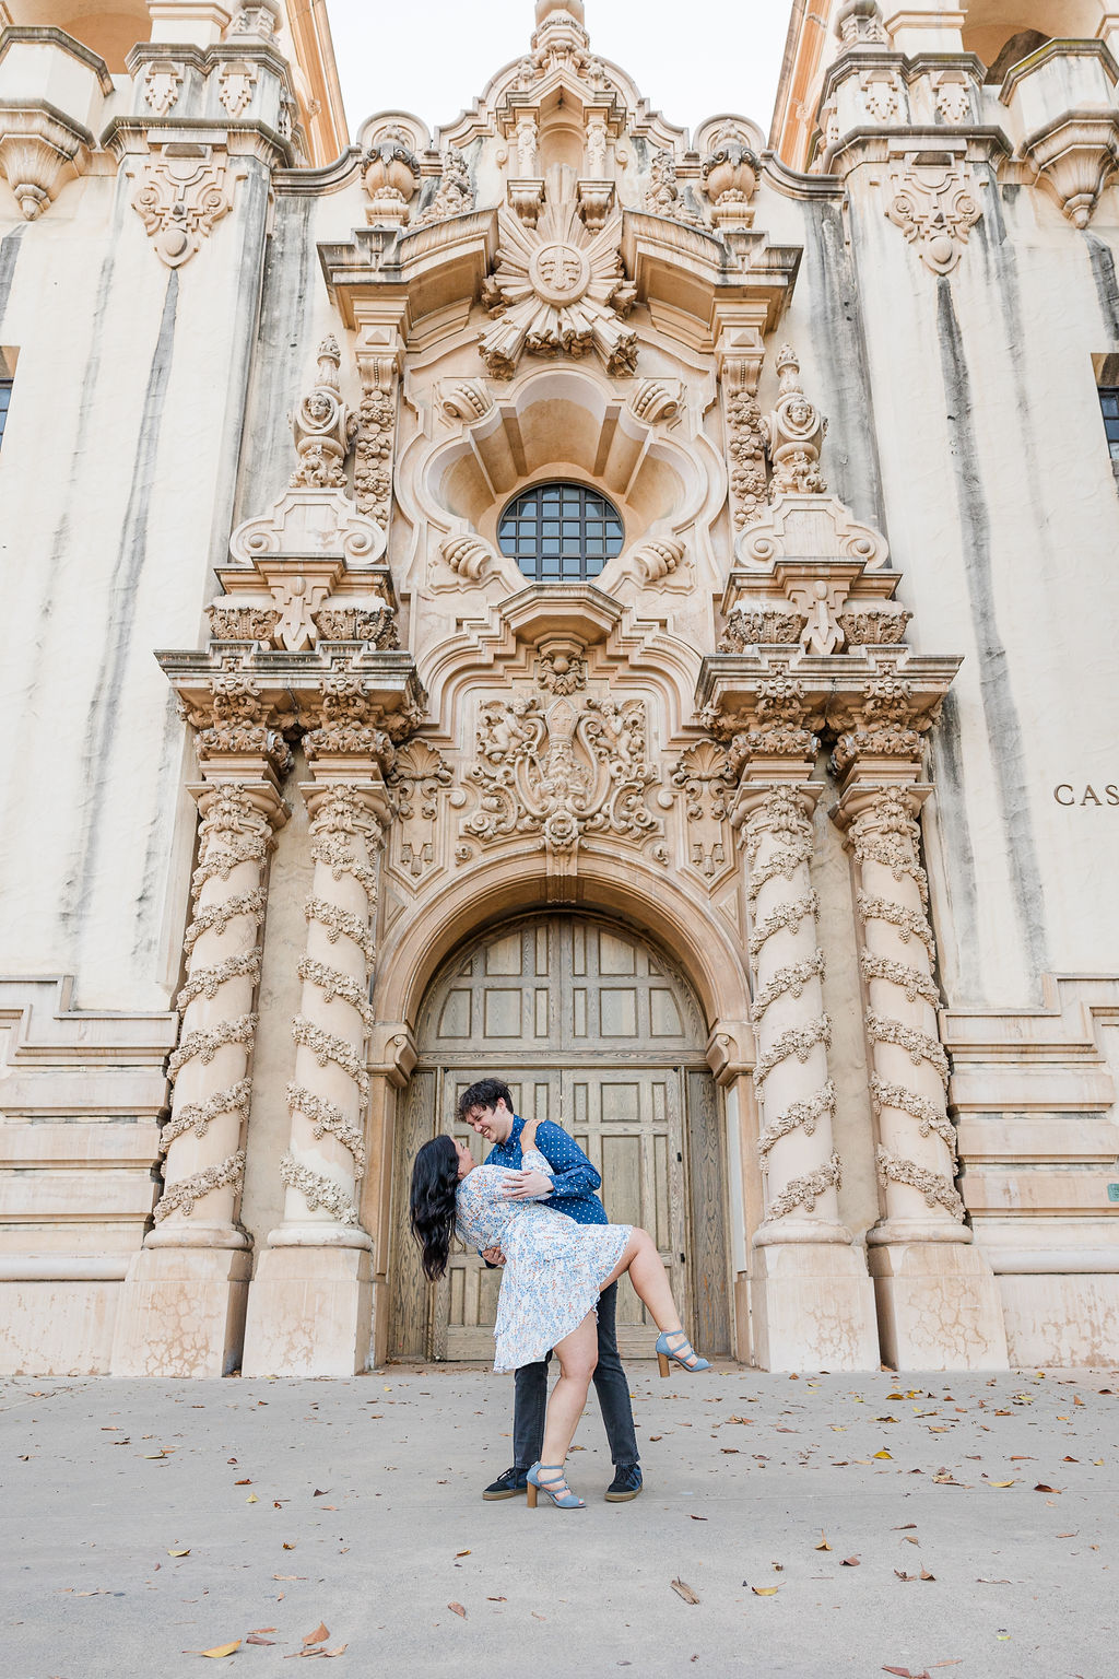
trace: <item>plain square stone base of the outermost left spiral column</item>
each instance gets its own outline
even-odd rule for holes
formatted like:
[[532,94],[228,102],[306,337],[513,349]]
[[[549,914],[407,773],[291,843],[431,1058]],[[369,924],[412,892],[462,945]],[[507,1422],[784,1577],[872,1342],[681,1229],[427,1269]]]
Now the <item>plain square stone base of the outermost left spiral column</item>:
[[250,1269],[243,1247],[141,1247],[121,1288],[112,1375],[237,1370]]

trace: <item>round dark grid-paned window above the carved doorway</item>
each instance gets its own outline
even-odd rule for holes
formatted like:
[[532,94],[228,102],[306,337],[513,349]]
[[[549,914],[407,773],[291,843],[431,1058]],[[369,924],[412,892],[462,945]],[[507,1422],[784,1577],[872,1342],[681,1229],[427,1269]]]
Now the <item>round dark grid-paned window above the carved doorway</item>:
[[497,541],[537,583],[597,578],[621,554],[626,531],[617,509],[582,484],[537,484],[508,504]]

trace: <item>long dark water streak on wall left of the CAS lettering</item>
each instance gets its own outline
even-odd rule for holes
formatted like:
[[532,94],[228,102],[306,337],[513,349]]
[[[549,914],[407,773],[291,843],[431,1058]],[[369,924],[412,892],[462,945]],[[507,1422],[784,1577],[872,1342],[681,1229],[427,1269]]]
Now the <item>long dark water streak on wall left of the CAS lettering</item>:
[[1018,939],[1032,975],[1047,965],[1044,930],[1045,898],[1028,814],[1025,777],[1025,740],[1022,720],[1010,690],[1007,648],[998,630],[995,581],[991,576],[991,517],[978,475],[978,437],[973,421],[971,374],[963,353],[963,337],[951,297],[951,282],[936,280],[941,376],[955,467],[956,502],[966,542],[963,574],[971,603],[971,625],[980,663],[983,725],[990,745],[990,764],[1002,818],[1007,826],[1010,888],[1017,908]]

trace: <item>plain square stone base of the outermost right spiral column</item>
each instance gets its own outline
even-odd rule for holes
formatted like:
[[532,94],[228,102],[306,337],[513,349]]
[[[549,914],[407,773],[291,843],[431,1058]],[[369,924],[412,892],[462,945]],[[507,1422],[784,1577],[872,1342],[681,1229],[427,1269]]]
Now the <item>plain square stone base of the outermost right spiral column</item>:
[[882,1358],[896,1370],[1007,1370],[995,1274],[971,1242],[867,1246]]

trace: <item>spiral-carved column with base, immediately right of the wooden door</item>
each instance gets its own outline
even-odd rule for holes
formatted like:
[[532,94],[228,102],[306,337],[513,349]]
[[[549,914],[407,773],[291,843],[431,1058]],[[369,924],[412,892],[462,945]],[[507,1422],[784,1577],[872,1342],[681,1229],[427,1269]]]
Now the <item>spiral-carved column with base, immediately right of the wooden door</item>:
[[[763,769],[758,766],[758,772]],[[841,1162],[832,1143],[824,952],[812,890],[812,782],[743,781],[753,1081],[765,1219],[753,1236],[755,1348],[767,1368],[877,1365],[874,1300],[862,1258],[839,1219]]]

